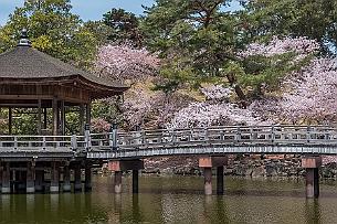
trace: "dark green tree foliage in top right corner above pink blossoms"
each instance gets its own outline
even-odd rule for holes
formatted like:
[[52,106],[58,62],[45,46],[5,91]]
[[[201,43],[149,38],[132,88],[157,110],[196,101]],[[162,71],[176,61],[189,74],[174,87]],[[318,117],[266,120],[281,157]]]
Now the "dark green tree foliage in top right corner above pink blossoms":
[[336,17],[337,2],[330,0],[254,0],[240,12],[245,41],[272,35],[308,36],[334,54]]

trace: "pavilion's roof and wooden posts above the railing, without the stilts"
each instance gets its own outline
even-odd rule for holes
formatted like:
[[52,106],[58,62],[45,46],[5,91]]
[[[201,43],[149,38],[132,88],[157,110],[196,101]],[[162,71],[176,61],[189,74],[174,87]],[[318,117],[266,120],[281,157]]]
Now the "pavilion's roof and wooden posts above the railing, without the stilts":
[[64,135],[66,107],[80,108],[83,130],[84,124],[91,121],[92,100],[120,95],[126,89],[33,49],[27,31],[17,47],[0,54],[0,108],[8,108],[9,135],[13,108],[38,110],[36,135]]

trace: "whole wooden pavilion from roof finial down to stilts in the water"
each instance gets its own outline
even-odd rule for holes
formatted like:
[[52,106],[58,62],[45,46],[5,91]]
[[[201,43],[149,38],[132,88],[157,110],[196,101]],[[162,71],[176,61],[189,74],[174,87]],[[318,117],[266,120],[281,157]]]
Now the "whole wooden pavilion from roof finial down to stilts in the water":
[[[65,114],[71,107],[80,110],[77,130],[82,132],[85,124],[91,122],[91,103],[94,99],[122,95],[127,88],[34,50],[28,40],[27,31],[23,31],[17,47],[0,54],[0,109],[8,110],[8,131],[0,136],[2,139],[14,138],[14,141],[19,138],[12,136],[15,135],[12,132],[13,108],[27,108],[35,113],[35,134],[20,135],[43,135],[43,139],[51,138],[53,141],[63,138]],[[17,125],[21,125],[20,118]],[[7,141],[0,141],[0,148],[8,143]],[[45,140],[42,145],[44,142]],[[78,152],[80,154],[74,157],[75,152],[71,148],[64,151],[61,145],[53,145],[55,146],[51,150],[46,150],[45,146],[41,146],[39,150],[30,150],[29,143],[27,148],[19,150],[15,142],[10,150],[2,148],[1,193],[15,192],[14,189],[20,189],[20,185],[25,188],[27,193],[43,191],[45,188],[50,189],[50,192],[59,192],[61,174],[63,191],[70,191],[71,170],[74,175],[74,190],[82,190],[82,169],[85,170],[85,189],[91,189],[93,161],[88,160],[85,153]],[[44,180],[45,173],[50,173],[50,182]]]

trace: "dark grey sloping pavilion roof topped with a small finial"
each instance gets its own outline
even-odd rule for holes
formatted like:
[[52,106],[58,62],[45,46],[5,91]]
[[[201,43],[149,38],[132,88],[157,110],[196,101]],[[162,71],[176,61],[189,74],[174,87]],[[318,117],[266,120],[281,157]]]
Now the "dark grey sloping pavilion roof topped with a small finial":
[[95,98],[122,94],[128,88],[33,49],[28,40],[27,31],[23,31],[21,40],[14,49],[0,54],[0,83],[2,84],[25,85],[33,82],[43,85],[71,79],[80,81],[91,92],[95,92]]

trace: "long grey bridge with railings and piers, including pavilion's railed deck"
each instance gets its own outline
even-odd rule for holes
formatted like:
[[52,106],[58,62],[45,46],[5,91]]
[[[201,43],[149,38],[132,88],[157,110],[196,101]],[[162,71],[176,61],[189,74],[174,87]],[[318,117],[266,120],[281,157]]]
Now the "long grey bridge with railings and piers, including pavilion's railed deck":
[[[122,191],[122,172],[126,170],[133,170],[133,189],[138,192],[138,170],[144,168],[141,159],[187,154],[200,156],[206,194],[212,193],[212,168],[217,167],[217,191],[221,193],[223,166],[227,164],[225,156],[230,153],[303,154],[303,167],[307,171],[306,193],[314,198],[319,194],[319,156],[337,154],[337,129],[328,126],[221,126],[129,132],[113,128],[102,134],[91,134],[87,129],[83,136],[0,136],[2,161],[11,158],[22,161],[52,161],[56,158],[109,161],[110,170],[115,171],[116,193]],[[77,179],[80,175],[81,170],[75,172]]]

